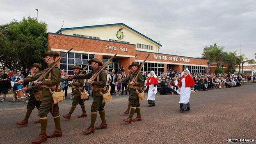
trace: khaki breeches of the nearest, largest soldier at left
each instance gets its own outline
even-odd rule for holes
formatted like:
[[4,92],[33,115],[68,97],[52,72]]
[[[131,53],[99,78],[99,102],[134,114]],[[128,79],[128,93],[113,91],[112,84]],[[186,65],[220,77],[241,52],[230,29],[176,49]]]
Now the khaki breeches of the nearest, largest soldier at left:
[[[51,112],[53,104],[53,97],[52,95],[43,95],[42,103],[39,107],[38,116],[40,118],[47,117],[47,114]],[[54,104],[53,113],[51,113],[53,117],[59,116],[59,105]]]

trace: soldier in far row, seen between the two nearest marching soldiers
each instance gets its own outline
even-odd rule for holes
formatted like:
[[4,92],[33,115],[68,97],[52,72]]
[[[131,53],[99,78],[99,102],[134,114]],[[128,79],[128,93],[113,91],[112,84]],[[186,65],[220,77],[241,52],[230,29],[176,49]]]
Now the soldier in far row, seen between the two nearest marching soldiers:
[[[79,65],[75,65],[73,66],[73,73],[75,75],[78,75],[79,73],[79,70],[81,70],[82,68],[79,66]],[[71,109],[69,111],[68,114],[66,115],[63,115],[62,117],[64,117],[65,119],[70,119],[71,117],[71,114],[74,112],[75,110],[75,107],[76,105],[80,105],[81,108],[82,108],[82,115],[78,116],[78,118],[81,118],[81,117],[87,117],[87,114],[86,114],[86,111],[85,111],[85,100],[81,99],[81,96],[80,96],[80,92],[83,92],[84,91],[84,79],[69,79],[69,78],[62,78],[61,81],[72,81],[70,82],[70,85],[72,86],[72,95],[74,96],[73,98],[73,102],[72,102],[72,106],[71,106]]]

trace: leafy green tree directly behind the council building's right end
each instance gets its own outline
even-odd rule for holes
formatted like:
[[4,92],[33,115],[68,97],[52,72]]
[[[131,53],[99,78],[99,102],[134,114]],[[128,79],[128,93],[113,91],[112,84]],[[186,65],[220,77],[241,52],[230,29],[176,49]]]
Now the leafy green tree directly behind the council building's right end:
[[210,45],[210,47],[205,46],[203,48],[202,58],[209,59],[211,63],[216,63],[217,68],[220,68],[222,62],[224,61],[224,55],[226,55],[223,51],[224,47],[217,46],[216,43],[214,45]]

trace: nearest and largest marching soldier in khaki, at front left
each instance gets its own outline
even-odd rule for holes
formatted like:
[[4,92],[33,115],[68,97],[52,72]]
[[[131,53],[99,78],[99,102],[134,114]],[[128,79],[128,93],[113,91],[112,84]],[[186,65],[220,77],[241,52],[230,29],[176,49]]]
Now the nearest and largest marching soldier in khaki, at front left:
[[[50,66],[53,66],[55,63],[55,58],[59,57],[59,54],[52,50],[47,50],[44,53],[44,60],[48,64],[48,68]],[[23,80],[19,80],[18,83],[23,82],[31,82],[35,85],[42,85],[43,87],[43,95],[42,95],[42,101],[41,105],[39,107],[38,116],[40,117],[40,123],[41,123],[41,132],[39,136],[32,140],[32,144],[41,144],[42,142],[45,142],[47,138],[52,137],[62,137],[62,130],[60,126],[60,115],[59,115],[59,105],[53,103],[53,96],[51,91],[61,91],[60,87],[60,80],[61,80],[61,71],[57,65],[46,74],[43,81],[37,81],[37,78],[39,78],[42,75],[42,73],[32,75],[30,77],[27,77]],[[53,108],[53,112],[52,112]],[[54,123],[55,123],[55,131],[52,135],[46,135],[46,128],[47,128],[47,121],[48,117],[47,114],[51,112]]]

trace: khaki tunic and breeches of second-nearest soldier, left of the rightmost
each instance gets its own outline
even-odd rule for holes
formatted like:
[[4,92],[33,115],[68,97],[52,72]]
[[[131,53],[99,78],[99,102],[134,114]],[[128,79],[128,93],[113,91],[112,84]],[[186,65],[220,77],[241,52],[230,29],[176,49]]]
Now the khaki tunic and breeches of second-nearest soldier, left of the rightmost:
[[[94,73],[96,73],[97,70],[91,71],[83,75],[74,75],[74,79],[90,79],[94,75]],[[102,70],[99,74],[99,81],[97,81],[97,77],[93,81],[94,83],[91,85],[92,87],[105,88],[106,81],[107,81],[107,74],[105,73],[105,71]],[[105,94],[105,91],[102,91],[102,93]],[[92,98],[94,101],[91,104],[91,112],[103,111],[104,106],[103,106],[103,97],[101,93],[99,91],[95,91],[92,88]]]

